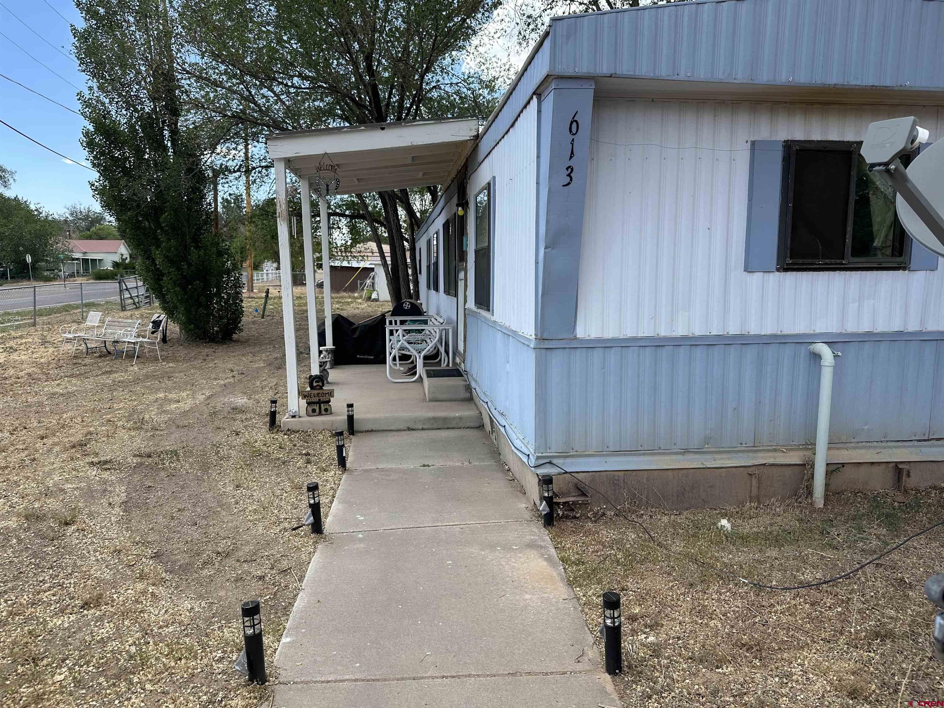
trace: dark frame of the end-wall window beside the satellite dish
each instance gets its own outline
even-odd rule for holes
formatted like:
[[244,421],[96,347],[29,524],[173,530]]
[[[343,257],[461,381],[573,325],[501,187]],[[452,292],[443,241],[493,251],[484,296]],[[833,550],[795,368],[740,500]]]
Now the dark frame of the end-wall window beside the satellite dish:
[[[783,177],[781,179],[780,235],[778,238],[778,271],[848,271],[848,270],[907,270],[911,255],[911,239],[907,238],[902,225],[895,218],[896,238],[902,238],[902,255],[887,258],[862,258],[851,255],[853,217],[855,212],[855,182],[861,141],[785,140]],[[793,194],[796,177],[798,150],[821,150],[823,152],[851,154],[849,177],[849,201],[846,205],[846,235],[844,255],[839,259],[791,259],[790,245],[793,236]]]

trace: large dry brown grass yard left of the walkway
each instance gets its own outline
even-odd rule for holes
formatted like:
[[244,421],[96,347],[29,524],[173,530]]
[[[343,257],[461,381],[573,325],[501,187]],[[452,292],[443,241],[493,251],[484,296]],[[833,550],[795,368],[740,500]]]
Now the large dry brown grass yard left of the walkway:
[[[267,430],[269,398],[285,405],[273,295],[265,320],[253,312],[261,294],[247,298],[233,343],[181,342],[172,325],[162,363],[153,352],[135,365],[71,359],[58,332],[77,311],[0,330],[3,706],[265,696],[232,668],[239,603],[261,598],[272,669],[316,544],[289,531],[306,512],[304,483],[320,480],[327,515],[340,480],[330,433]],[[389,306],[336,303],[355,320]],[[307,350],[298,307],[295,320]]]

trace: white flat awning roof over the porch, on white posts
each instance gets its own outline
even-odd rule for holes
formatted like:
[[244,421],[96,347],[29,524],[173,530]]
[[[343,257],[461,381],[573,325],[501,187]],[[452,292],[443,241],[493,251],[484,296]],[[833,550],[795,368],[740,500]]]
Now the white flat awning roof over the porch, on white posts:
[[377,123],[273,133],[269,157],[284,158],[299,179],[322,161],[337,166],[338,194],[445,184],[479,135],[477,118]]

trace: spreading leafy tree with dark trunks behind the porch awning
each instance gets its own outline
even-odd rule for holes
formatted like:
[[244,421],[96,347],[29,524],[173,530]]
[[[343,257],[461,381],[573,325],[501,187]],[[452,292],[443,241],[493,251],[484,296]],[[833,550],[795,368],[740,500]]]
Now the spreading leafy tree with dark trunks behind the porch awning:
[[[180,0],[185,100],[195,121],[218,126],[234,145],[242,126],[258,140],[278,130],[483,117],[506,75],[481,62],[464,68],[463,53],[498,3]],[[430,188],[332,200],[335,213],[357,222],[355,235],[390,245],[395,299],[418,295],[407,261],[415,263],[413,234],[435,195]]]

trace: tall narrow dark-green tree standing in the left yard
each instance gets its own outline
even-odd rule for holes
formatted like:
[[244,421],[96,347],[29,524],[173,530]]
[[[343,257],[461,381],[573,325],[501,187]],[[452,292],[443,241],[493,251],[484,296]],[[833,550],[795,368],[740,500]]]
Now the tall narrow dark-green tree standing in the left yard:
[[177,14],[167,0],[78,0],[82,143],[98,202],[139,259],[138,272],[188,336],[241,329],[243,284],[212,228],[207,161],[215,149],[181,103]]

